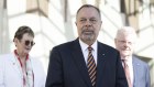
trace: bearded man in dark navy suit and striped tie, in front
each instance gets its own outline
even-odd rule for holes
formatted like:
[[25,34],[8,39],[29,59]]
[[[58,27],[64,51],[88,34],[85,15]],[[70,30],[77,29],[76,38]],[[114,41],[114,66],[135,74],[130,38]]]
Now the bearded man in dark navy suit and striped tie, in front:
[[76,15],[79,37],[53,47],[46,87],[128,87],[119,52],[97,41],[101,23],[98,8],[91,4],[79,8]]

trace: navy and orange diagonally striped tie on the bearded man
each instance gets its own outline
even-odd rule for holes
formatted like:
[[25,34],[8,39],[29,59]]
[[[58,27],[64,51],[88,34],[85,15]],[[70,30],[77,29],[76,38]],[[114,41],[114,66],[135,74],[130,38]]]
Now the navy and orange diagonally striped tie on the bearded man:
[[87,67],[88,67],[88,73],[89,77],[91,79],[92,87],[96,87],[96,63],[95,58],[92,56],[92,47],[88,47],[89,54],[88,54],[88,59],[87,59]]

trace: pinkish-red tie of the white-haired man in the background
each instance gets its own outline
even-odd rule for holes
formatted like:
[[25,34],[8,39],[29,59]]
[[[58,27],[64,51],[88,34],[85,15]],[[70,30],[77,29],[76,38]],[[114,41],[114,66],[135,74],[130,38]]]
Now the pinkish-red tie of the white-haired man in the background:
[[122,62],[123,62],[123,68],[124,68],[124,72],[125,72],[125,76],[127,76],[129,87],[132,87],[131,78],[130,78],[129,65],[127,64],[127,59],[122,59]]

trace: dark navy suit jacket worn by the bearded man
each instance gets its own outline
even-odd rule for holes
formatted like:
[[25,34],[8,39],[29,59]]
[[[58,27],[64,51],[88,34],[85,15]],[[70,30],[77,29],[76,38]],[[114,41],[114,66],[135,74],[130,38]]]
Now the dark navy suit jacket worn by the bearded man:
[[[45,87],[92,87],[78,39],[53,47]],[[100,42],[96,87],[128,87],[118,51]]]

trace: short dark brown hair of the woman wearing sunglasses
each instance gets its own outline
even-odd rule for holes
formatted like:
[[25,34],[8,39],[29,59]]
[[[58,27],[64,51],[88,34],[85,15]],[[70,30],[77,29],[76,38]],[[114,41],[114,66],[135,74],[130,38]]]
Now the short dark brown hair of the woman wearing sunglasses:
[[[18,40],[21,40],[23,34],[25,34],[25,33],[29,33],[30,35],[32,35],[34,37],[34,32],[32,31],[32,29],[30,26],[22,25],[15,32],[14,39],[16,37]],[[14,41],[14,39],[13,39],[13,41]]]

